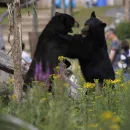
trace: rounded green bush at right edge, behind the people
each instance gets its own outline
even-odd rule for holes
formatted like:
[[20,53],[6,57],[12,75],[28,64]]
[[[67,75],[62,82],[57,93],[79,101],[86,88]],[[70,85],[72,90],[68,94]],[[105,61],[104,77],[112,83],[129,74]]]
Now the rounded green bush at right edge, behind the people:
[[120,40],[130,39],[130,22],[122,22],[116,27],[116,34]]

